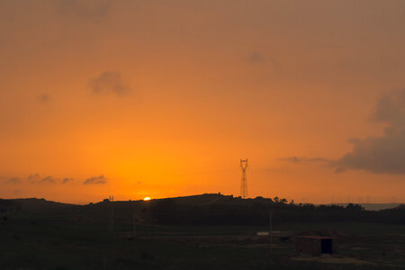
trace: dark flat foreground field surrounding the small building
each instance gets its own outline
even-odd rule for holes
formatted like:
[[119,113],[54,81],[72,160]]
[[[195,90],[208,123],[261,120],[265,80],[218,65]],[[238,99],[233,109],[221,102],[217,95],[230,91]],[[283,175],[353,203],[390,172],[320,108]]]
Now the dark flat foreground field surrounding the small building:
[[[366,222],[279,223],[267,227],[137,226],[14,213],[0,221],[0,269],[405,269],[405,226]],[[295,252],[289,235],[337,237],[339,253]],[[283,232],[282,232],[283,234]]]

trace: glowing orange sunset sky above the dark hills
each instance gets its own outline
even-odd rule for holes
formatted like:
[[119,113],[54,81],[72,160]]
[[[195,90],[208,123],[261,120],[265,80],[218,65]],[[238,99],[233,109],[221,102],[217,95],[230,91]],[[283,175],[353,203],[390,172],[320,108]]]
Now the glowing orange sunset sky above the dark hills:
[[[0,0],[0,197],[405,202],[405,1]],[[367,199],[368,198],[368,199]]]

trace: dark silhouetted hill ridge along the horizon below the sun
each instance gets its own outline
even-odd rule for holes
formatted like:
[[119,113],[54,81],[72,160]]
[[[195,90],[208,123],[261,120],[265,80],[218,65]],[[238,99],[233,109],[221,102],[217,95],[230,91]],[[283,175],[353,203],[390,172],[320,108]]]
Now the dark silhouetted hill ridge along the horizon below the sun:
[[366,211],[361,205],[294,204],[284,199],[257,197],[241,199],[209,193],[150,201],[118,201],[87,205],[49,202],[44,199],[0,200],[0,208],[11,211],[52,213],[85,220],[108,220],[113,210],[117,222],[137,222],[177,225],[265,225],[269,212],[277,222],[340,222],[366,221],[405,224],[405,207],[400,205],[381,211]]

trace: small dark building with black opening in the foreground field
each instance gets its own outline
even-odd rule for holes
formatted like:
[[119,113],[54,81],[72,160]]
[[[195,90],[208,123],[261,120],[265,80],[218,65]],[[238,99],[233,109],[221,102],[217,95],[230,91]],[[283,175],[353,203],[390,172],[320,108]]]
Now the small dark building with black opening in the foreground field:
[[295,238],[297,252],[321,255],[338,253],[338,239],[322,236],[300,236]]

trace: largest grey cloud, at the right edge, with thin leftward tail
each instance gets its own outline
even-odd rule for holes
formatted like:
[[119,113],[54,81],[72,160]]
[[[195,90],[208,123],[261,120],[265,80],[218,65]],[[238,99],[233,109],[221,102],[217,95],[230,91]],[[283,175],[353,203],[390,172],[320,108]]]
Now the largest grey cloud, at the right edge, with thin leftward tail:
[[374,174],[405,175],[405,89],[383,94],[371,116],[374,122],[387,123],[383,136],[352,138],[353,150],[336,160],[316,157],[287,157],[291,163],[320,162],[335,167],[337,173],[347,169]]

